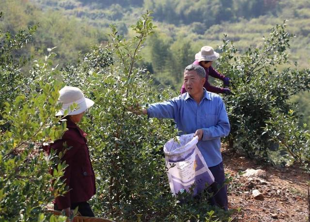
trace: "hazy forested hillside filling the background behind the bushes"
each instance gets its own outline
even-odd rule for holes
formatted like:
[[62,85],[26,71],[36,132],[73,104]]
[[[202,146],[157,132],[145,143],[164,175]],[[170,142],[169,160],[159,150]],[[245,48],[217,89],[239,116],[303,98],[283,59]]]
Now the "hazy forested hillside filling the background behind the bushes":
[[[155,83],[178,90],[186,64],[202,45],[222,44],[223,34],[238,50],[261,46],[263,36],[283,20],[296,35],[291,41],[292,67],[308,67],[310,61],[309,0],[0,0],[3,30],[18,30],[40,23],[31,46],[32,54],[44,55],[57,46],[57,62],[74,62],[92,44],[105,43],[109,25],[130,37],[129,28],[146,10],[153,10],[157,29],[143,50],[143,64]],[[210,79],[212,81],[212,78]],[[216,84],[216,83],[214,83]],[[305,100],[309,94],[296,97]],[[309,104],[303,101],[303,104]],[[303,108],[310,122],[310,108]]]

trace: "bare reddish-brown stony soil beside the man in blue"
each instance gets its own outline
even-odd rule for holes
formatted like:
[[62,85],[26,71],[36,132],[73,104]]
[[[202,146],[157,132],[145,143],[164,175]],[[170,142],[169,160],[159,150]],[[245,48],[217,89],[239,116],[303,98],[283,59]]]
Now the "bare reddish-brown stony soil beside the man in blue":
[[[229,208],[241,207],[236,222],[309,222],[307,175],[299,166],[276,167],[259,164],[224,148],[225,172],[229,185]],[[242,176],[246,169],[262,169],[267,177]],[[254,199],[252,191],[263,195]]]

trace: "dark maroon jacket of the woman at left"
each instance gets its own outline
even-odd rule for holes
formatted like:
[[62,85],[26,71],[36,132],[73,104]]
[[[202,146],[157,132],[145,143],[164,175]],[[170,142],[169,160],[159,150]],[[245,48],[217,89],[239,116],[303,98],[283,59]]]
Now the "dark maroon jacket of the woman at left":
[[66,179],[65,182],[70,191],[56,198],[59,209],[70,207],[72,203],[88,201],[96,191],[93,166],[85,138],[86,133],[70,120],[67,120],[67,128],[68,131],[63,134],[62,139],[56,140],[50,146],[57,152],[71,147],[62,157],[62,160],[68,164],[63,178]]

